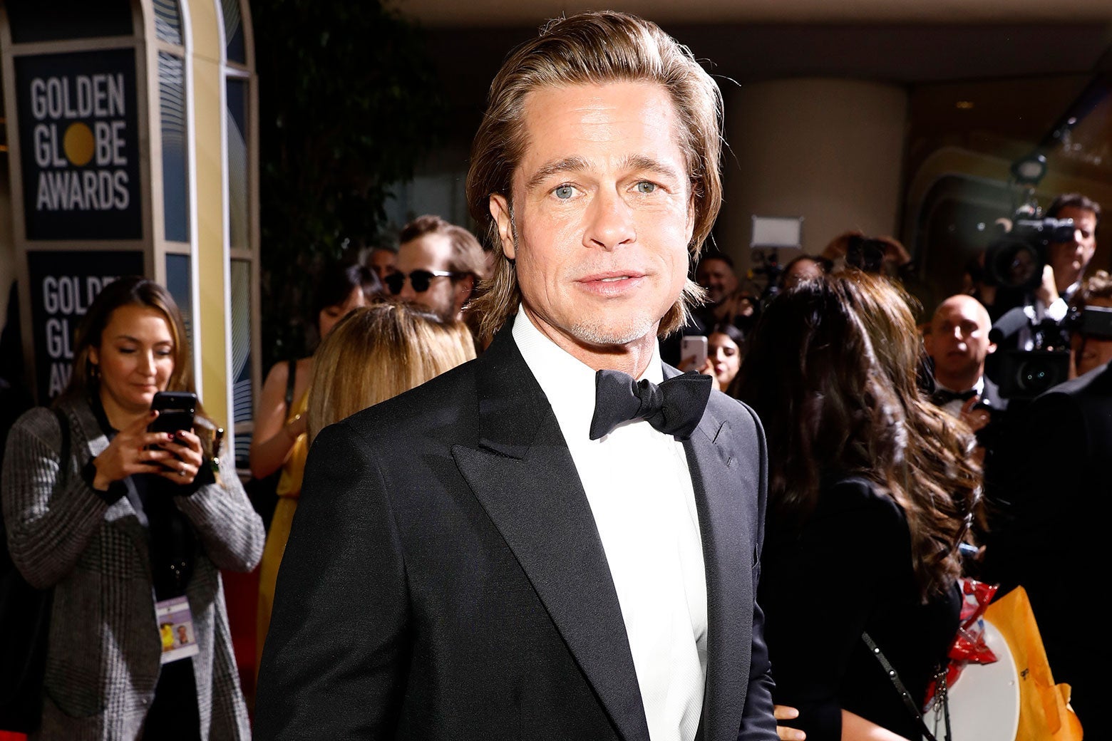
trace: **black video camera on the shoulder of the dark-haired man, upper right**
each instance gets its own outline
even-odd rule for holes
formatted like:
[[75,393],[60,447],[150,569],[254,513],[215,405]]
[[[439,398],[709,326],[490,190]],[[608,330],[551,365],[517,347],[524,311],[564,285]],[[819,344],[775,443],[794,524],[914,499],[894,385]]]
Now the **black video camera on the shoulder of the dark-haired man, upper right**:
[[1073,241],[1073,219],[1043,218],[1037,207],[1024,206],[1012,218],[1011,229],[992,242],[984,256],[984,282],[1024,293],[1039,288],[1048,248]]

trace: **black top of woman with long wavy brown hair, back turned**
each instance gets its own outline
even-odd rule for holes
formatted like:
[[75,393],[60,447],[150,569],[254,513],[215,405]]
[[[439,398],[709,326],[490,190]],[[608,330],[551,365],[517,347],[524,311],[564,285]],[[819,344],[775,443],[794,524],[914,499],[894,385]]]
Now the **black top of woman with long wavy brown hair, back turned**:
[[912,718],[862,641],[867,631],[922,705],[957,630],[956,585],[923,604],[903,510],[860,478],[831,480],[802,527],[768,513],[759,602],[778,704],[807,741],[838,741],[843,709],[909,739]]

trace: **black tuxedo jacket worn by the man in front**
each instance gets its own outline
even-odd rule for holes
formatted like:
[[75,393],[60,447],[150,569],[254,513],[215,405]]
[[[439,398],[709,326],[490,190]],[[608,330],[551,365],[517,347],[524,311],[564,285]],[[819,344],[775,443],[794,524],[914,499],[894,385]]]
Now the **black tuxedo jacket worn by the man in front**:
[[[702,738],[772,741],[764,433],[714,392],[684,447],[706,563]],[[648,740],[590,507],[508,327],[317,438],[255,715],[258,739]]]

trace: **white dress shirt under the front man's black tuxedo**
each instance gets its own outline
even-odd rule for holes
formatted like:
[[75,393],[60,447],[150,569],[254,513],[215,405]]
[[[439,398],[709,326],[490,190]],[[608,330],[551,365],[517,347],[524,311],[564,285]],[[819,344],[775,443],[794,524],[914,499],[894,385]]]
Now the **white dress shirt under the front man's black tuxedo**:
[[[590,440],[595,371],[524,309],[514,341],[548,398],[598,528],[653,741],[692,741],[706,680],[706,571],[683,443],[642,420]],[[657,347],[642,378],[663,380]]]

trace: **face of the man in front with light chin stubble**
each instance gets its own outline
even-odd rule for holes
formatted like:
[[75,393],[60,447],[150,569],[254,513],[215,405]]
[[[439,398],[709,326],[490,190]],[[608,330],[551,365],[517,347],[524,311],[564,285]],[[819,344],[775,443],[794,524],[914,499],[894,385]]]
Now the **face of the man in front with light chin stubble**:
[[666,90],[540,89],[526,98],[523,123],[514,223],[503,196],[492,196],[490,213],[530,320],[585,362],[606,346],[651,347],[686,282],[694,228]]

